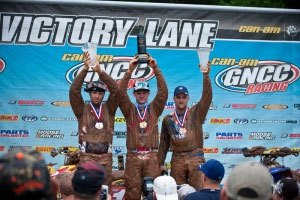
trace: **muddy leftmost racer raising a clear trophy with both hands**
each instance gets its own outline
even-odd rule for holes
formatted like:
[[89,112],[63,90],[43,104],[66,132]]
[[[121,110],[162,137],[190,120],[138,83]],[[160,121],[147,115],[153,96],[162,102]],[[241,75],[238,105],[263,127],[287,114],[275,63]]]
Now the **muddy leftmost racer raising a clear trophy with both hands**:
[[[119,105],[119,86],[99,63],[92,68],[101,81],[90,82],[85,91],[89,92],[90,103],[85,103],[81,88],[89,70],[90,57],[84,53],[84,68],[78,72],[70,87],[69,97],[72,110],[78,120],[78,135],[81,152],[80,162],[94,160],[104,166],[107,174],[105,184],[112,181],[112,154],[110,151],[114,132],[114,116]],[[103,81],[103,82],[102,82]],[[110,92],[103,102],[106,86]]]

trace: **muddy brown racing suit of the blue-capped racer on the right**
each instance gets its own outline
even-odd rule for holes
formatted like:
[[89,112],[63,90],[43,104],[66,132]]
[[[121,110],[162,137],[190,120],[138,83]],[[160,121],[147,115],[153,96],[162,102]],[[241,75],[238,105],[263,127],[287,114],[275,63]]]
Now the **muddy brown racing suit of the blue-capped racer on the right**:
[[169,150],[173,152],[171,159],[171,176],[178,185],[188,183],[196,190],[202,188],[201,174],[197,170],[203,163],[203,130],[206,114],[212,101],[212,87],[208,74],[204,74],[201,100],[192,106],[183,122],[184,134],[179,131],[175,111],[166,115],[162,122],[160,145],[158,151],[159,164],[163,165]]

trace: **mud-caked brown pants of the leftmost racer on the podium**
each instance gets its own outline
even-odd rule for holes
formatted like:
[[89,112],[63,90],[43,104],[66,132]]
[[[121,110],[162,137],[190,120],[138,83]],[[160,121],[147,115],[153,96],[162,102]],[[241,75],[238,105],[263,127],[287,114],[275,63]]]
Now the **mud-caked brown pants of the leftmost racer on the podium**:
[[93,153],[83,153],[80,152],[79,156],[80,162],[86,160],[93,160],[104,167],[106,173],[106,181],[104,185],[108,185],[109,189],[111,189],[111,182],[112,182],[112,154],[93,154]]

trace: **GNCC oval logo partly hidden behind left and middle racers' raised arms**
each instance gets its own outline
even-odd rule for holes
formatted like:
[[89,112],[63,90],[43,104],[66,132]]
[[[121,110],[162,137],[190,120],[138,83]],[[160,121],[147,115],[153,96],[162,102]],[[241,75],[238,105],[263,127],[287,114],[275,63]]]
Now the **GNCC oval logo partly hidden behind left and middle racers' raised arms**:
[[[119,82],[124,74],[129,69],[129,62],[132,57],[113,57],[112,61],[104,62],[100,65],[100,67],[110,75],[115,81]],[[80,63],[71,69],[69,69],[66,73],[66,79],[69,83],[72,83],[76,76],[83,69],[84,64]],[[146,81],[150,80],[154,77],[154,71],[152,68],[148,67],[146,63],[138,64],[136,69],[133,71],[131,79],[128,83],[128,88],[132,88],[137,79],[144,79]],[[86,83],[91,81],[99,80],[99,76],[92,69],[89,69],[87,76],[84,79],[84,86]]]

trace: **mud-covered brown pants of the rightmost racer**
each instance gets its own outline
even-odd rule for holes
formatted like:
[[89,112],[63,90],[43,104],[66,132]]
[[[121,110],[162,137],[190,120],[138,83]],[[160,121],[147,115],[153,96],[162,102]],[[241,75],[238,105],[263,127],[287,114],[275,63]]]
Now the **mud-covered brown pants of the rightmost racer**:
[[173,153],[171,176],[177,185],[189,184],[198,191],[202,189],[201,172],[198,171],[198,166],[204,162],[203,153]]

